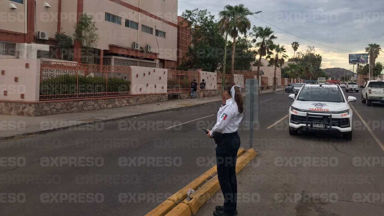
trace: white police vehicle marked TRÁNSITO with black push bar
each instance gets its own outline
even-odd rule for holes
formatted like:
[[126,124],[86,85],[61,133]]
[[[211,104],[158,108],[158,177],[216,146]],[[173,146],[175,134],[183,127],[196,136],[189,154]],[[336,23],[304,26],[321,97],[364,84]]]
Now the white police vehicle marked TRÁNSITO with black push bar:
[[341,87],[334,84],[306,84],[289,98],[293,103],[288,111],[289,133],[298,131],[316,133],[341,133],[346,140],[352,140],[353,113]]

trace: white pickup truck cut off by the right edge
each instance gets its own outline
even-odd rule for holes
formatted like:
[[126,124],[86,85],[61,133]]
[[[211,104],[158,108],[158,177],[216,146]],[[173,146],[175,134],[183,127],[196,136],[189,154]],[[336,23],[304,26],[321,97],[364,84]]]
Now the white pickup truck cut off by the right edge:
[[371,106],[372,102],[384,103],[384,81],[370,80],[361,91],[361,103]]

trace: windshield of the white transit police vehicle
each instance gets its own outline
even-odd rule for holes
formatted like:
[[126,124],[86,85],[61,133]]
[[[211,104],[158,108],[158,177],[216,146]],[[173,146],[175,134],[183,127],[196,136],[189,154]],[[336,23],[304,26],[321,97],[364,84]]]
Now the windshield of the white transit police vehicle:
[[299,101],[323,101],[323,102],[344,102],[344,97],[337,87],[331,86],[304,86],[297,96]]

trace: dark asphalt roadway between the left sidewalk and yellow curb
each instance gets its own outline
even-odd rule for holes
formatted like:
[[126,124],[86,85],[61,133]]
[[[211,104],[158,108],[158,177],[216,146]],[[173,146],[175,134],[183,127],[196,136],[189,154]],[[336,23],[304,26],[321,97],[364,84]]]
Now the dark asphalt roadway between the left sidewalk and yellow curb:
[[[43,183],[43,189],[35,187],[33,184],[23,184],[23,182],[2,184],[2,191],[23,191],[29,200],[23,205],[23,208],[5,205],[2,209],[5,213],[12,212],[13,214],[23,214],[25,211],[41,214],[41,209],[43,209],[47,215],[60,215],[61,212],[65,213],[70,209],[86,209],[89,212],[98,209],[105,214],[129,212],[134,215],[143,215],[215,164],[214,143],[205,137],[204,132],[197,128],[196,123],[174,127],[169,131],[164,130],[166,126],[164,122],[174,120],[175,116],[182,121],[187,121],[191,117],[202,116],[207,110],[212,110],[212,108],[197,107],[189,109],[188,112],[186,112],[187,110],[172,111],[161,115],[142,116],[129,121],[82,126],[1,143],[4,150],[2,155],[21,157],[26,160],[25,166],[17,169],[2,167],[1,171],[6,173],[5,177],[8,180],[10,179],[8,175],[22,175],[27,178],[28,176],[36,177],[38,174],[50,180]],[[214,124],[215,117],[212,117],[210,121]],[[104,164],[100,167],[73,168],[57,166],[51,161],[52,166],[49,164],[49,166],[42,167],[40,163],[42,157],[57,158],[59,156],[60,158],[101,157]],[[181,158],[182,165],[177,167],[179,165],[177,164],[171,168],[133,165],[128,169],[117,166],[120,157],[148,159],[156,156],[164,158],[177,156]],[[111,181],[104,182],[105,178],[112,178],[113,174],[123,176],[127,173],[129,175],[125,180],[129,182],[128,185],[127,181],[121,180],[117,185],[111,185]],[[97,176],[101,176],[102,181],[96,179]],[[104,198],[103,208],[95,208],[98,206],[95,203],[76,205],[50,203],[51,201],[56,202],[53,197],[52,200],[48,199],[48,203],[41,203],[40,196],[43,193],[49,192],[56,195],[76,191],[94,194],[97,194],[95,191],[101,191]],[[144,194],[146,199],[138,201],[138,197],[135,197],[136,199],[134,198],[128,203],[120,203],[118,195],[125,191],[128,193],[124,196],[129,195],[129,198],[131,195],[139,196],[138,194],[141,194],[142,196]],[[153,193],[154,191],[156,193]],[[155,197],[153,198],[153,196]],[[149,198],[151,200],[148,202]]]

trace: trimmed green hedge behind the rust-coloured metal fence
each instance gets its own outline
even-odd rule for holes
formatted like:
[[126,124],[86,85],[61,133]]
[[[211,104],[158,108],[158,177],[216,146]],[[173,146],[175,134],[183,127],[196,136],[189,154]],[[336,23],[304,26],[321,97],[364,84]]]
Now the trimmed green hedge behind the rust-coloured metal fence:
[[[77,78],[75,75],[61,75],[41,81],[40,95],[76,94]],[[105,77],[79,76],[78,93],[103,93],[106,91]],[[108,92],[129,91],[130,82],[122,78],[108,78]]]

